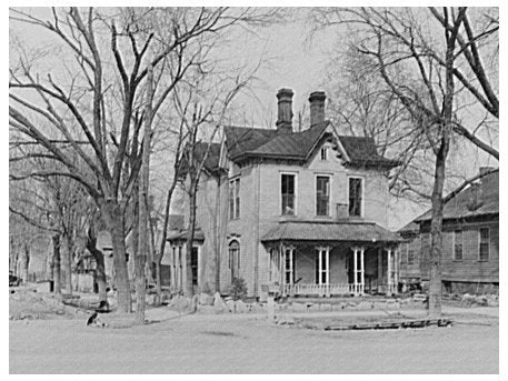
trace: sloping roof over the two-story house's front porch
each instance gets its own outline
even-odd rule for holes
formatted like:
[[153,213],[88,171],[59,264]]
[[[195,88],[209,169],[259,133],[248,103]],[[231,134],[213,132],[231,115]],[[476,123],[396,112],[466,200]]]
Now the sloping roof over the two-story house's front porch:
[[401,238],[375,222],[365,221],[281,221],[261,238],[269,241],[399,242]]

